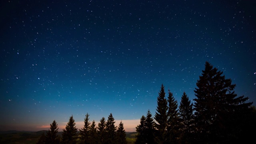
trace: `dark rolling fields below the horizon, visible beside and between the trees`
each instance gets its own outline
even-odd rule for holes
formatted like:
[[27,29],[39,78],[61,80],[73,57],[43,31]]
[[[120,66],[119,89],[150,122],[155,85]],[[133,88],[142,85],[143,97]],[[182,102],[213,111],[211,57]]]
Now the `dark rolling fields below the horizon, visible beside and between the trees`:
[[[37,140],[40,138],[43,132],[47,130],[42,130],[38,132],[26,132],[26,131],[2,131],[0,132],[0,144],[36,144]],[[61,136],[62,132],[58,132]],[[135,135],[137,132],[126,132],[126,140],[128,144],[134,144]]]

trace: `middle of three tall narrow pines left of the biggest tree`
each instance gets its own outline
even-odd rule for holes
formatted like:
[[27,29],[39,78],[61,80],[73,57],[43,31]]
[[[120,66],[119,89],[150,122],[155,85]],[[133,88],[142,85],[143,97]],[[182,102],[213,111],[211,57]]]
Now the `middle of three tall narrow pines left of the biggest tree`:
[[167,140],[168,144],[177,143],[179,137],[179,116],[178,116],[178,102],[168,90],[168,112],[167,112]]

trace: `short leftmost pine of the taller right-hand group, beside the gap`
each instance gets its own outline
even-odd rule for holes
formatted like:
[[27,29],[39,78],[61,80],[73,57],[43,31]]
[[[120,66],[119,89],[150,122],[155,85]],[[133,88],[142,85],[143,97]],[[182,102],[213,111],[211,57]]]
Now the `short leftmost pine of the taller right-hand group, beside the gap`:
[[136,136],[135,144],[146,144],[146,118],[142,115],[140,124],[136,126],[138,135]]

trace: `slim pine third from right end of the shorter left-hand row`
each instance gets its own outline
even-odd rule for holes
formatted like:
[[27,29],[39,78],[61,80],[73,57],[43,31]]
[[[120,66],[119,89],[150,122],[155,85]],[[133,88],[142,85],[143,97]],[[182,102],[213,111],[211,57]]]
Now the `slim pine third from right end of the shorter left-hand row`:
[[106,120],[105,120],[104,117],[102,117],[102,119],[100,119],[100,122],[98,124],[97,134],[98,134],[98,143],[99,144],[106,144],[106,139],[107,139]]

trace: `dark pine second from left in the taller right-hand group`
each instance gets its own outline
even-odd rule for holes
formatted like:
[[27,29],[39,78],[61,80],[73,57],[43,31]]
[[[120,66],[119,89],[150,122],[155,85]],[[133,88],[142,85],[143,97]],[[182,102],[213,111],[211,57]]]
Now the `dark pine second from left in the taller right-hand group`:
[[145,142],[147,144],[155,144],[155,135],[156,132],[154,126],[154,120],[152,118],[152,114],[150,110],[147,112],[146,120],[145,120]]

